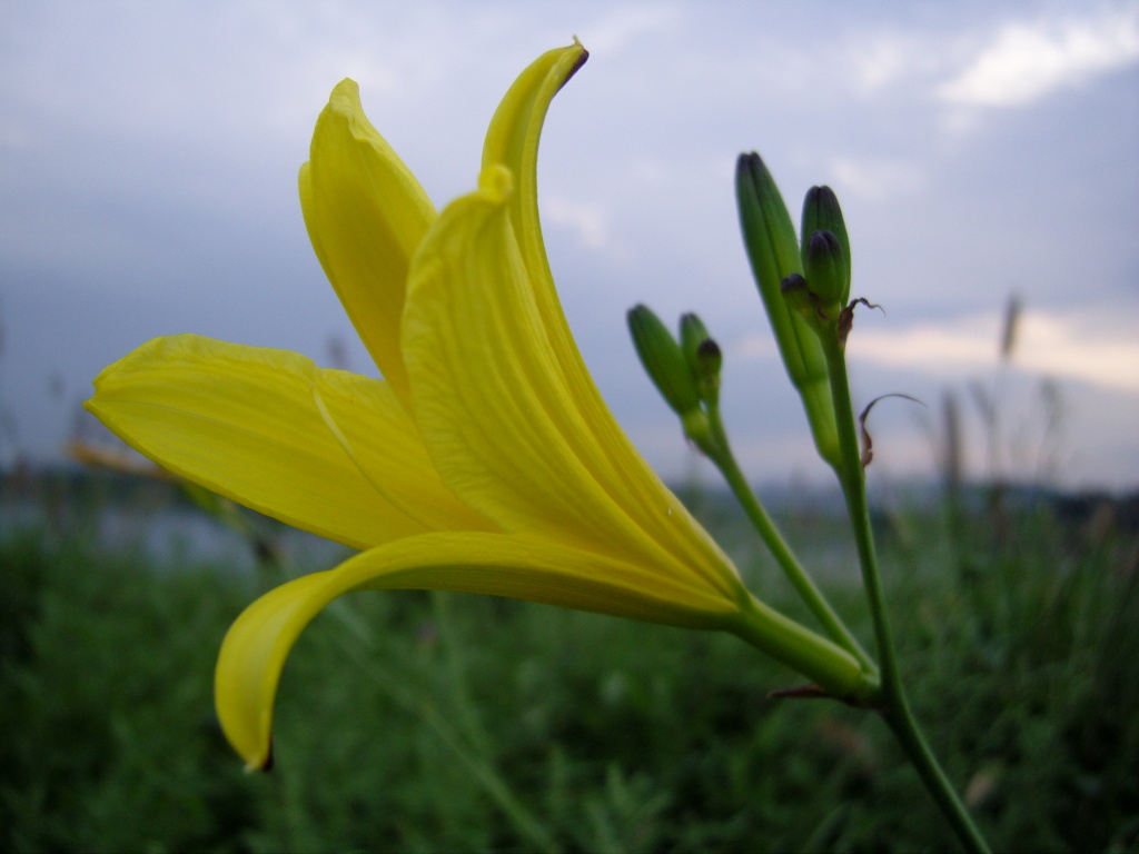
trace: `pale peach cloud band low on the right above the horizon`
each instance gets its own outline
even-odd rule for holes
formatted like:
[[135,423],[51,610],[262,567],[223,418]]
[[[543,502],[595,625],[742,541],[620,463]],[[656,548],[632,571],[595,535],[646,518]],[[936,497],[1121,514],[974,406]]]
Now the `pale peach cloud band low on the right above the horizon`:
[[[851,336],[853,359],[925,373],[960,373],[998,361],[1001,318],[976,314],[952,323],[920,323],[902,330],[860,330]],[[1025,312],[1013,363],[1052,377],[1139,392],[1139,329],[1091,315]]]

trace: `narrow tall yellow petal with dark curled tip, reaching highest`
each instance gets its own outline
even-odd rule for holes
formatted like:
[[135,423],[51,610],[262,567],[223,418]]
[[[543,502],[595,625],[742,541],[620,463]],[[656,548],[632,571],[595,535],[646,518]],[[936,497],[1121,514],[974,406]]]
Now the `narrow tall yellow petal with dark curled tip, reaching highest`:
[[[486,132],[483,169],[506,166],[514,178],[516,186],[506,204],[528,273],[526,287],[533,295],[549,359],[558,366],[565,393],[592,436],[588,444],[597,453],[591,465],[595,477],[654,540],[687,563],[726,563],[719,547],[661,483],[609,412],[573,339],[550,276],[538,216],[538,143],[554,96],[588,57],[574,42],[547,51],[518,76]],[[662,512],[662,507],[669,511]]]

